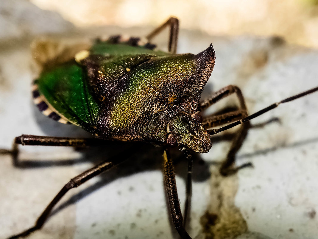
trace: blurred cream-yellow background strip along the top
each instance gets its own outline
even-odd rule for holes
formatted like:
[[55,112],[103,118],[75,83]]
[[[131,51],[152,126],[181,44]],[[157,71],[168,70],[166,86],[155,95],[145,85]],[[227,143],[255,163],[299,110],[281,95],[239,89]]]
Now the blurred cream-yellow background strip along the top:
[[76,26],[157,26],[169,16],[210,35],[279,35],[318,47],[318,0],[30,0]]

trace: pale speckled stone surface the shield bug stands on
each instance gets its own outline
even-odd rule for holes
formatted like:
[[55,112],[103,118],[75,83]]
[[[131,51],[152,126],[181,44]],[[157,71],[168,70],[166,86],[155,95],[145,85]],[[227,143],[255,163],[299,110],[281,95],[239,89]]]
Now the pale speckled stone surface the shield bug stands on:
[[[17,11],[16,7],[6,9]],[[36,73],[31,64],[31,40],[38,33],[48,32],[59,33],[55,39],[71,36],[82,40],[84,36],[124,32],[145,35],[151,29],[75,29],[56,14],[52,17],[43,11],[41,15],[41,10],[31,4],[23,9],[19,11],[29,20],[21,24],[21,19],[12,18],[10,24],[18,29],[17,33],[8,31],[0,39],[0,147],[10,148],[13,138],[22,133],[88,136],[81,129],[47,119],[33,106],[31,82]],[[32,12],[38,12],[38,18]],[[2,15],[0,24],[8,19]],[[43,27],[38,21],[48,24]],[[30,34],[19,33],[31,28],[35,30]],[[277,38],[212,37],[196,31],[181,30],[179,39],[179,53],[198,53],[213,43],[216,65],[203,95],[236,84],[242,89],[251,113],[318,83],[316,50],[288,46]],[[156,41],[159,47],[166,47],[165,34]],[[219,162],[230,146],[227,141],[215,143],[208,154],[202,155],[204,162],[195,161],[188,229],[193,238],[210,238],[212,232],[215,238],[233,238],[242,234],[246,226],[249,232],[238,238],[316,237],[317,99],[317,93],[312,94],[280,105],[252,121],[257,124],[273,117],[280,119],[280,123],[249,131],[237,164],[252,162],[253,169],[243,169],[228,178],[218,175]],[[211,111],[226,104],[228,100],[223,100]],[[32,226],[71,177],[105,158],[120,156],[121,150],[114,145],[81,150],[25,146],[20,147],[19,168],[12,166],[9,155],[0,155],[0,238]],[[44,228],[28,238],[178,238],[166,205],[162,152],[150,145],[140,145],[138,151],[137,159],[71,190],[53,210]],[[182,159],[176,160],[182,207],[186,165]],[[216,226],[203,220],[212,213],[219,215]]]

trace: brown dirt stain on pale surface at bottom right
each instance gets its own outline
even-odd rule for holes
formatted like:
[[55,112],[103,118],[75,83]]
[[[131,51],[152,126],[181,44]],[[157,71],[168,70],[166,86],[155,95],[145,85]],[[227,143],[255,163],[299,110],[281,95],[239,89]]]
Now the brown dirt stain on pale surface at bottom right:
[[211,167],[210,205],[201,217],[205,239],[230,239],[247,231],[247,224],[234,204],[238,177],[223,177],[218,167]]

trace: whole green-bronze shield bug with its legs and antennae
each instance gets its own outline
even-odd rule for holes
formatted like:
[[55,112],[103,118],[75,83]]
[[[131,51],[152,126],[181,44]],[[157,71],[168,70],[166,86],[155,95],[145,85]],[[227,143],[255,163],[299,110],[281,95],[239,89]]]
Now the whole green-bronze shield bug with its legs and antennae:
[[[70,62],[53,68],[48,66],[35,82],[32,93],[40,111],[61,123],[79,125],[97,137],[71,139],[21,135],[16,138],[16,143],[85,146],[105,144],[106,140],[141,140],[162,145],[172,219],[178,233],[183,238],[190,238],[183,227],[169,146],[178,146],[189,160],[188,182],[191,182],[190,150],[197,153],[208,152],[211,148],[211,134],[239,125],[242,121],[236,120],[244,119],[246,123],[241,125],[239,136],[230,150],[231,155],[235,155],[245,138],[248,120],[277,105],[271,105],[246,118],[244,98],[235,86],[225,87],[199,103],[201,92],[214,67],[214,49],[211,45],[197,55],[175,54],[178,34],[178,22],[175,18],[170,18],[149,34],[148,40],[165,26],[170,26],[169,53],[149,49],[153,47],[151,43],[138,46],[139,40],[136,38],[125,40],[116,36],[106,42],[96,42],[89,51],[79,52]],[[73,82],[75,80],[77,82]],[[314,91],[317,88],[283,100],[282,103]],[[239,110],[221,116],[204,119],[200,117],[199,113],[205,108],[233,93],[239,98]],[[213,129],[233,121],[235,122],[229,126]],[[35,227],[11,238],[25,236],[41,228],[53,206],[69,189],[114,167],[122,160],[124,159],[103,162],[74,177],[52,200]],[[223,164],[223,174],[238,170],[231,167],[233,161],[234,157],[229,157]],[[190,189],[190,183],[188,188]]]

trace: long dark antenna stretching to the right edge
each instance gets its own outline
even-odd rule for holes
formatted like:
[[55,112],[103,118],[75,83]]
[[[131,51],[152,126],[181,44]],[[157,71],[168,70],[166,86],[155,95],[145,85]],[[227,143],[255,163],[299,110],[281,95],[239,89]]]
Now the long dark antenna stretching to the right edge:
[[305,96],[305,95],[314,93],[315,91],[318,91],[318,86],[315,87],[315,88],[312,88],[312,89],[310,89],[310,90],[308,90],[308,91],[304,91],[304,92],[301,92],[301,93],[299,93],[299,94],[297,94],[297,95],[294,95],[294,96],[288,97],[288,98],[286,98],[286,99],[283,99],[283,100],[281,100],[281,101],[279,101],[279,102],[276,102],[276,103],[274,103],[274,104],[272,104],[272,105],[269,105],[269,106],[267,106],[266,108],[261,109],[261,110],[259,110],[258,112],[253,113],[253,114],[251,114],[251,115],[249,115],[249,116],[243,118],[242,120],[235,121],[235,122],[233,122],[233,123],[231,123],[231,124],[229,124],[229,125],[227,125],[227,126],[221,127],[221,128],[219,128],[219,129],[209,129],[208,132],[210,133],[210,135],[218,134],[218,133],[220,133],[220,132],[222,132],[222,131],[224,131],[224,130],[230,129],[230,128],[232,128],[232,127],[234,127],[234,126],[237,126],[237,125],[240,125],[240,124],[242,124],[242,123],[244,123],[244,122],[248,122],[248,121],[250,121],[250,120],[252,120],[252,119],[258,117],[259,115],[264,114],[265,112],[270,111],[270,110],[276,108],[278,105],[280,105],[280,104],[282,104],[282,103],[286,103],[286,102],[289,102],[289,101],[292,101],[292,100],[301,98],[301,97],[303,97],[303,96]]

